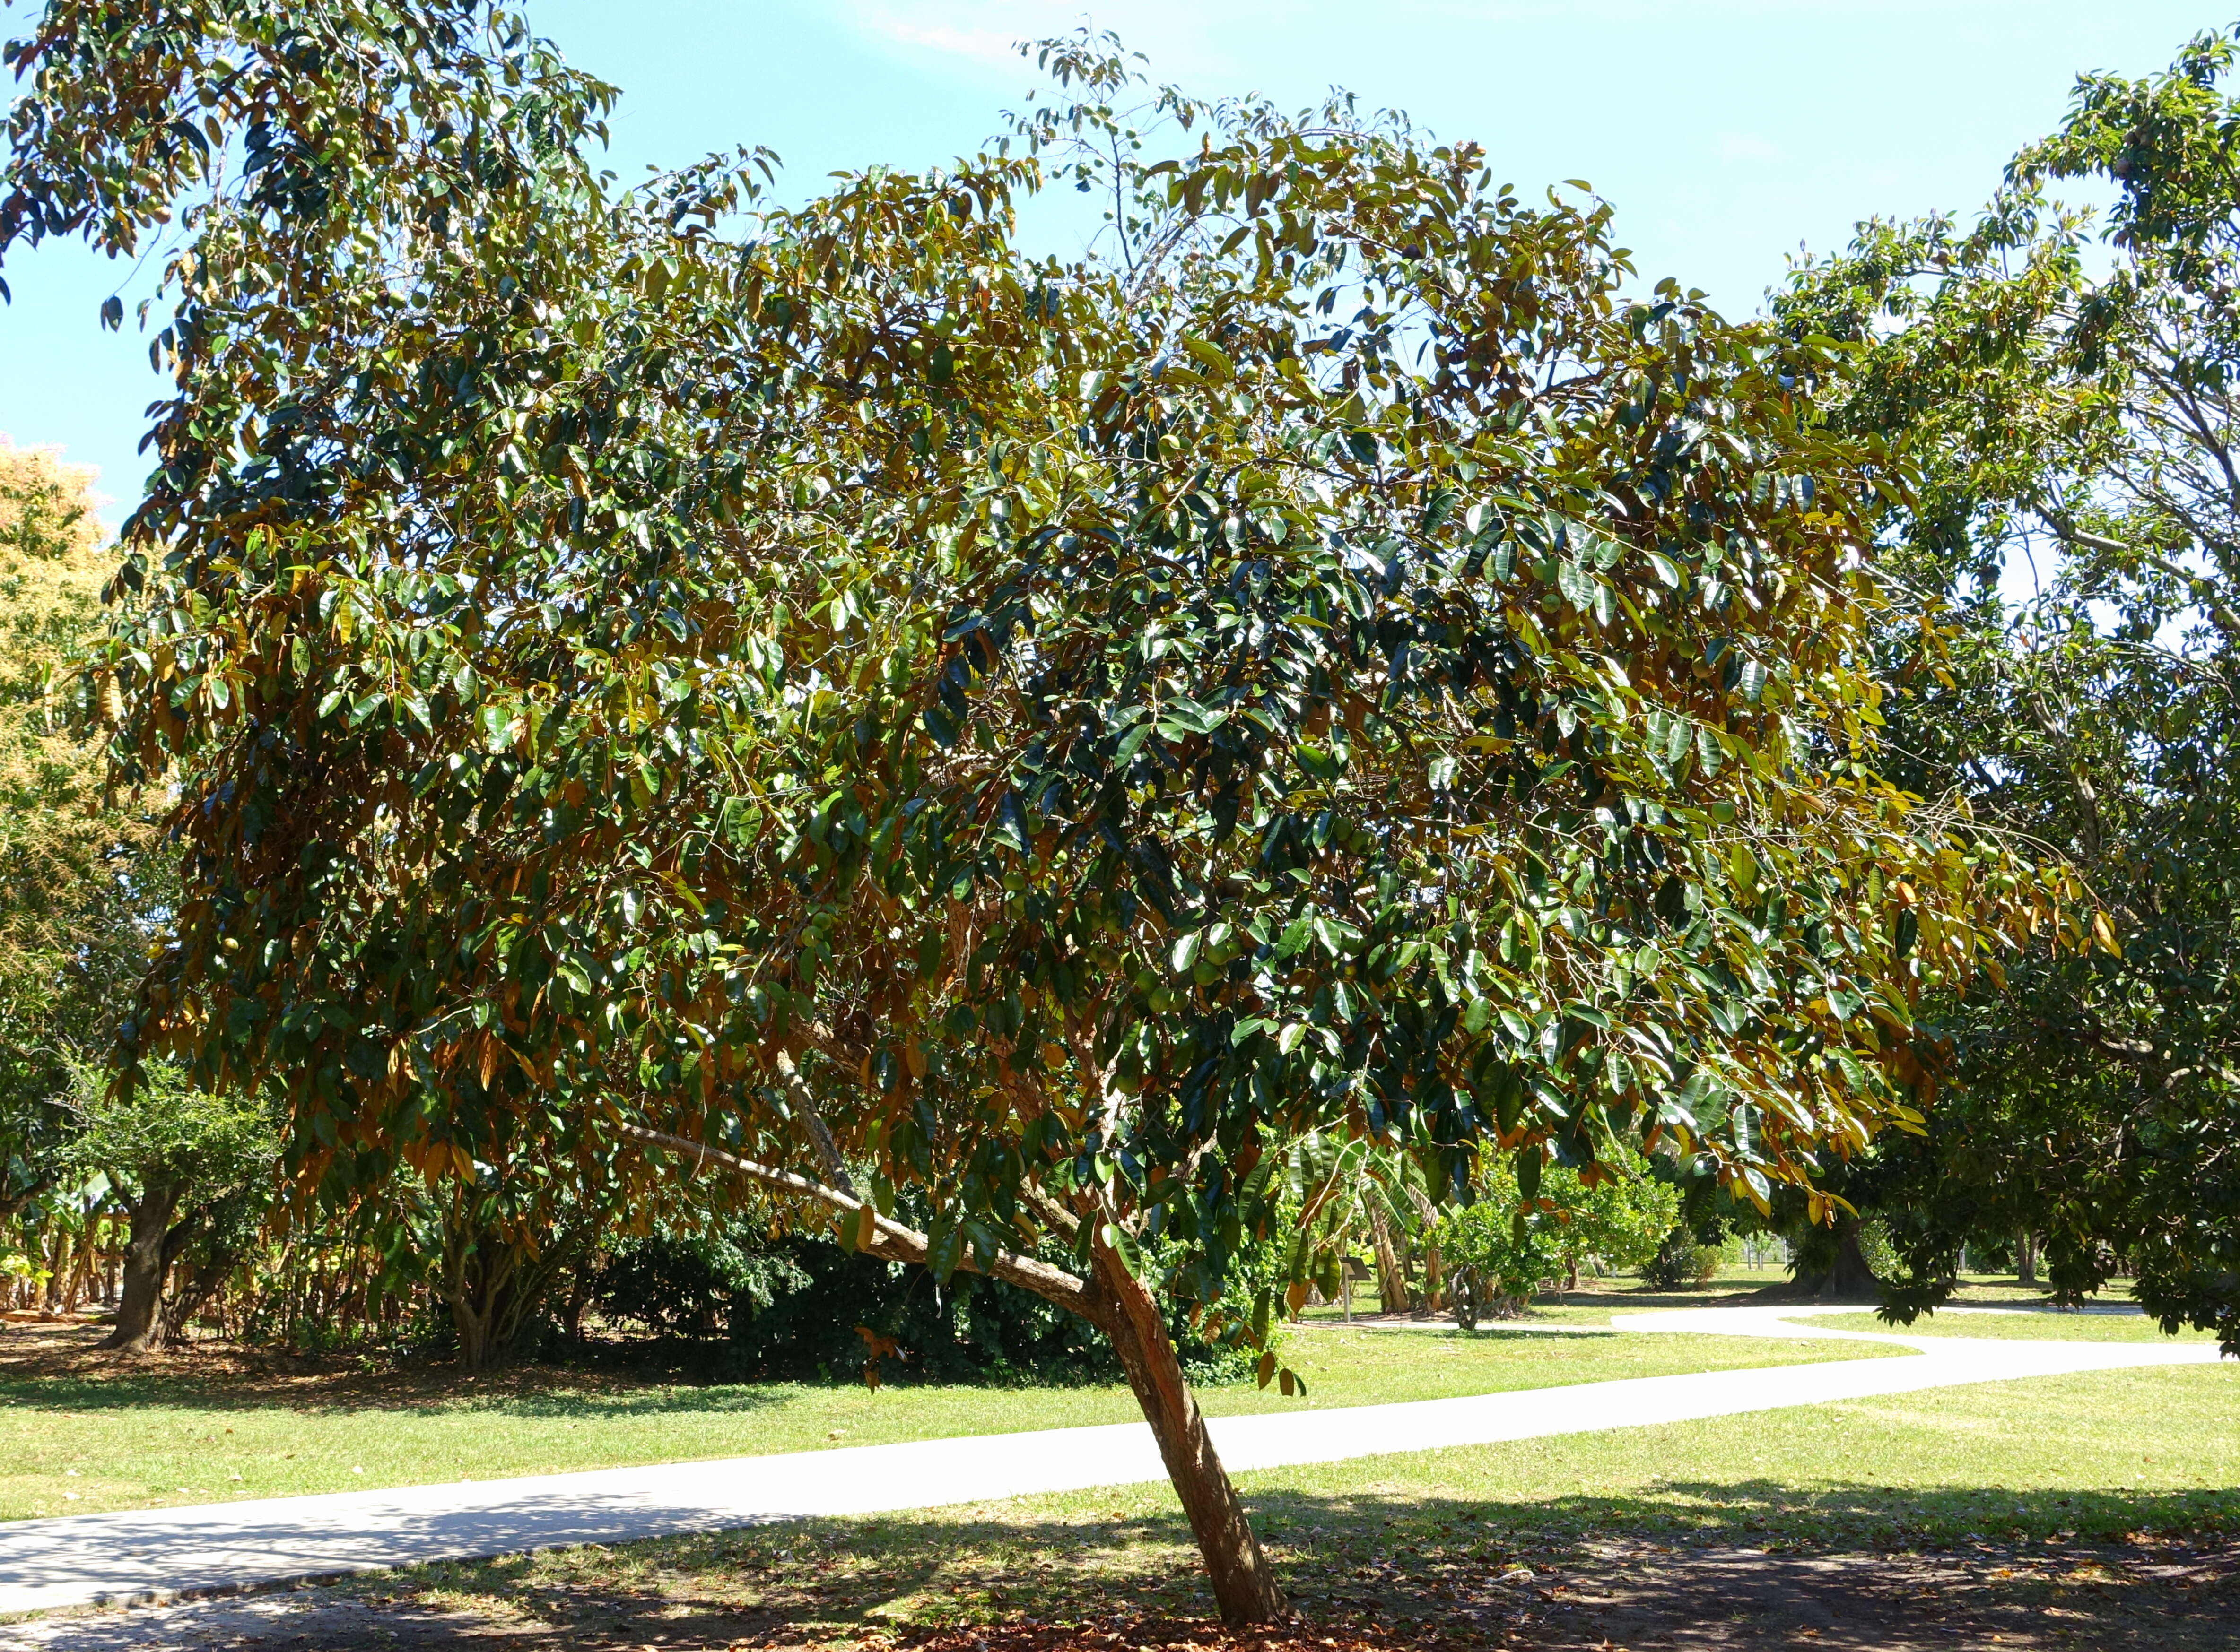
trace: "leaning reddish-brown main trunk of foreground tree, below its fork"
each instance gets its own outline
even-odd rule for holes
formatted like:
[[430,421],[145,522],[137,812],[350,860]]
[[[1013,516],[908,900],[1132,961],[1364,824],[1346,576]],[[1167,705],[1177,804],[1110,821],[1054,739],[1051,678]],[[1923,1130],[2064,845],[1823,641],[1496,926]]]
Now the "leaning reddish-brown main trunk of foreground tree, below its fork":
[[1205,1433],[1205,1417],[1183,1379],[1183,1363],[1174,1357],[1158,1303],[1102,1236],[1091,1260],[1095,1289],[1113,1310],[1104,1330],[1120,1354],[1129,1388],[1136,1390],[1136,1404],[1151,1424],[1151,1437],[1158,1439],[1158,1455],[1183,1500],[1183,1513],[1189,1515],[1221,1621],[1243,1625],[1281,1618],[1284,1592],[1261,1554],[1259,1538],[1252,1536],[1236,1486],[1214,1453],[1214,1439]]

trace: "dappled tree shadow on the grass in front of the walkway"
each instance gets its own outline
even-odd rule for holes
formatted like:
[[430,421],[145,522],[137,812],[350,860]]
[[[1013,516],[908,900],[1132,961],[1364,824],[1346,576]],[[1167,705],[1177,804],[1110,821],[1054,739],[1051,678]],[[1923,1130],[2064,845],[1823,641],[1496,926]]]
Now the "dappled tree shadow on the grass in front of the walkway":
[[[1922,1614],[1924,1589],[1933,1594],[1935,1576],[1953,1567],[1982,1574],[1969,1596],[1980,1596],[1982,1627],[2009,1607],[2038,1612],[2032,1589],[2068,1587],[2061,1578],[2079,1567],[2130,1585],[2124,1598],[2137,1605],[2139,1587],[2168,1583],[2171,1556],[2184,1558],[2186,1545],[2240,1554],[2236,1491],[1897,1493],[1857,1484],[1801,1493],[1763,1480],[1676,1480],[1644,1495],[1539,1502],[1279,1491],[1252,1498],[1252,1511],[1286,1589],[1308,1616],[1476,1625],[1487,1634],[1546,1621],[1550,1607],[1566,1605],[1555,1587],[1564,1578],[1575,1592],[1617,1598],[1611,1589],[1626,1576],[1617,1565],[1613,1583],[1613,1556],[1626,1554],[1655,1556],[1653,1576],[1682,1603],[1716,1589],[1779,1614],[1805,1585],[1855,1596],[1850,1618],[1861,1630],[1879,1623],[1891,1645],[1906,1614]],[[1857,1578],[1837,1576],[1846,1556],[1857,1558]],[[726,1636],[753,1634],[750,1643],[793,1645],[878,1627],[1212,1612],[1189,1531],[1174,1511],[811,1520],[444,1562],[403,1576],[423,1603],[497,1609],[594,1641],[627,1641],[659,1623],[670,1636],[683,1634],[685,1645],[697,1645],[694,1636],[726,1645]],[[2215,1612],[2229,1614],[2229,1567],[2222,1576],[2224,1605]],[[1633,1596],[1635,1618],[1662,1609],[1658,1587],[1635,1583]],[[2197,1605],[2209,1609],[2209,1596]],[[2171,1627],[2173,1609],[2157,1607],[2164,1641],[2141,1645],[2191,1645]],[[1653,1627],[1646,1618],[1635,1634]],[[2128,1632],[2108,1643],[2128,1645]]]

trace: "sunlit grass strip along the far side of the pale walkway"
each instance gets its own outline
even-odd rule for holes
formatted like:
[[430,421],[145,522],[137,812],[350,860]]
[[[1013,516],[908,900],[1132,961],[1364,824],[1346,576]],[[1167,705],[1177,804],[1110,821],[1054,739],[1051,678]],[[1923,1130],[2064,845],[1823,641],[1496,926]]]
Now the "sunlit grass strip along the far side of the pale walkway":
[[[1306,1399],[1243,1383],[1207,1388],[1203,1404],[1216,1417],[1371,1406],[1873,1352],[1857,1343],[1734,1336],[1315,1327],[1286,1348],[1308,1381]],[[29,1368],[0,1363],[0,1520],[1138,1417],[1120,1386],[683,1388],[556,1370],[475,1383],[448,1372],[296,1377],[213,1368],[197,1354],[119,1368],[72,1354]]]

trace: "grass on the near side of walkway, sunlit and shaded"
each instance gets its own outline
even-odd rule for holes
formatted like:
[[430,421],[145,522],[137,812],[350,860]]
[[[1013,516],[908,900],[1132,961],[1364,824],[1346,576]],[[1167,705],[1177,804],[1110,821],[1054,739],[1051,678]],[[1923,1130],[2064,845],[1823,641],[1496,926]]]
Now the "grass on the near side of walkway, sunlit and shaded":
[[[1617,1540],[1684,1567],[1720,1545],[2229,1538],[2236,1408],[2240,1365],[2119,1370],[1266,1471],[1239,1489],[1317,1616],[1438,1618],[1505,1567],[1559,1583]],[[1167,1486],[562,1549],[365,1587],[562,1630],[782,1623],[811,1645],[853,1645],[867,1625],[1212,1609]]]

